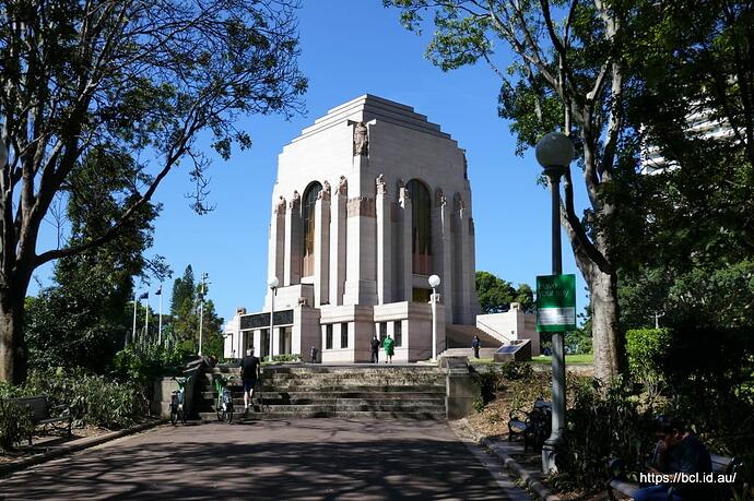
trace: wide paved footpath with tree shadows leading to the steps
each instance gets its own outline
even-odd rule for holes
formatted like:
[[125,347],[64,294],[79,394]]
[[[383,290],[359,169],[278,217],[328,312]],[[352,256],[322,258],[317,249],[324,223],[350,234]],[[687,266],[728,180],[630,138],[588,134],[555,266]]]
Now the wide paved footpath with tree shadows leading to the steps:
[[530,499],[480,460],[436,421],[164,426],[0,479],[0,499]]

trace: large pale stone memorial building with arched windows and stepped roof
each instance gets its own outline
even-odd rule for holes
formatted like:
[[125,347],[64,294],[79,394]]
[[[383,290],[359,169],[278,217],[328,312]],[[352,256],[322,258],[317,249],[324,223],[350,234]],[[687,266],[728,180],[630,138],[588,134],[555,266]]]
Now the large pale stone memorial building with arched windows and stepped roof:
[[[272,190],[264,307],[239,309],[226,356],[256,347],[321,361],[368,361],[391,335],[397,361],[432,357],[446,332],[475,324],[474,222],[463,150],[413,108],[365,95],[331,109],[287,144]],[[260,287],[262,285],[260,284]],[[447,327],[447,331],[446,331]],[[380,360],[382,359],[380,354]]]

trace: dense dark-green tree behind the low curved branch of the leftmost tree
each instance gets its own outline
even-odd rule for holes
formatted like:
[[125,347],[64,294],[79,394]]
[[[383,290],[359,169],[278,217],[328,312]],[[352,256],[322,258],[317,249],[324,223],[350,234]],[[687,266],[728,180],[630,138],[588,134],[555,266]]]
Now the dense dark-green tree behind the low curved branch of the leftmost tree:
[[[130,157],[98,150],[74,169],[67,187],[69,244],[86,241],[117,216],[122,180],[133,179],[137,170]],[[158,207],[148,203],[117,238],[56,262],[54,285],[26,300],[32,367],[107,367],[131,331],[127,303],[133,277],[151,266],[144,252],[152,244],[157,213]]]

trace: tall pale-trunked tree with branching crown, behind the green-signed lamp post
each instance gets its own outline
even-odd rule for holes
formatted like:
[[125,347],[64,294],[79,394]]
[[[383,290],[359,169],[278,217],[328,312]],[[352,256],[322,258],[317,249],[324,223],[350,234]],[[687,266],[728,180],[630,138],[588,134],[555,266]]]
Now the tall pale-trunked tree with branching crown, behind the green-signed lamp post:
[[[620,207],[609,196],[622,170],[634,170],[624,140],[625,87],[631,74],[623,57],[633,44],[629,4],[593,0],[385,0],[402,10],[401,21],[421,29],[434,14],[435,34],[427,57],[443,70],[479,60],[502,80],[499,114],[513,120],[517,153],[561,128],[579,151],[589,207],[579,215],[572,170],[565,172],[561,223],[592,302],[594,373],[610,380],[623,367],[618,329],[617,271],[611,234]],[[557,17],[557,19],[556,19]],[[513,49],[509,68],[496,64],[495,43]],[[627,155],[626,155],[627,154]],[[625,155],[625,156],[624,156]]]

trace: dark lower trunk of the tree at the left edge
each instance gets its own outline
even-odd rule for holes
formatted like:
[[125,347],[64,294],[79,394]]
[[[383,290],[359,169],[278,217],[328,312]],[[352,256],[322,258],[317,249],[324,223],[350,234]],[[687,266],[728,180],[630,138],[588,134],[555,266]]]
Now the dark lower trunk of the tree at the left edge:
[[[26,379],[24,298],[17,287],[0,288],[0,381],[21,384]],[[14,294],[15,293],[15,294]]]

